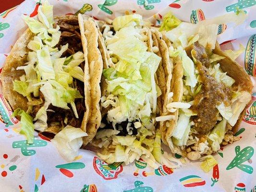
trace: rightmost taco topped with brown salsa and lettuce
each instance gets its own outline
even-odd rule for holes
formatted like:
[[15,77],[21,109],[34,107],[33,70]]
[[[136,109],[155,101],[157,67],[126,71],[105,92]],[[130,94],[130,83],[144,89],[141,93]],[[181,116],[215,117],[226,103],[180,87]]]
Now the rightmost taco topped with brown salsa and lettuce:
[[173,117],[160,124],[162,140],[173,153],[197,160],[239,140],[233,134],[251,100],[252,82],[216,43],[218,24],[181,23],[164,34],[171,44],[162,57],[175,65],[172,98],[163,106]]

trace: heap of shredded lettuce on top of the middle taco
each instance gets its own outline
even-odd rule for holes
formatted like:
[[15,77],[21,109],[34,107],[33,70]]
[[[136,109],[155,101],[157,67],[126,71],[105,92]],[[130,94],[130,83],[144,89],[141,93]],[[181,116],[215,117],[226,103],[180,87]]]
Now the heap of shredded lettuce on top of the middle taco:
[[160,93],[155,82],[155,72],[161,58],[153,52],[147,52],[143,30],[135,25],[125,25],[114,36],[106,39],[110,57],[116,62],[113,67],[103,70],[110,95],[104,97],[101,105],[104,108],[111,105],[108,119],[114,124],[125,120],[141,120],[143,126],[151,127],[150,117],[157,110]]

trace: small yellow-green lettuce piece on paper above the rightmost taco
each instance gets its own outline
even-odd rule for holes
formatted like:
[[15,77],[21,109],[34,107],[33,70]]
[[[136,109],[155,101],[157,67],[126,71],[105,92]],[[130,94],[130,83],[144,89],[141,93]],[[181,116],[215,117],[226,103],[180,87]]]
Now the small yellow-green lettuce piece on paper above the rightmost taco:
[[168,12],[163,17],[163,23],[161,24],[159,31],[170,31],[181,23],[182,22],[177,17],[175,17],[171,12]]

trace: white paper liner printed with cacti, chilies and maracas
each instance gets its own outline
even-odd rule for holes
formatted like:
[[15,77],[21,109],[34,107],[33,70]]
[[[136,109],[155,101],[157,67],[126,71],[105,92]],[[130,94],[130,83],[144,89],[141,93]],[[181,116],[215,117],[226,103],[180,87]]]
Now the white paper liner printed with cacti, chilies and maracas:
[[[38,1],[38,0],[37,0]],[[27,26],[21,16],[36,16],[37,1],[22,4],[0,14],[0,68],[17,38]],[[248,19],[237,27],[219,25],[222,48],[246,48],[237,61],[256,76],[256,0],[49,0],[54,15],[88,14],[95,19],[130,13],[142,14],[157,25],[171,11],[179,19],[196,23],[207,18],[244,9]],[[193,13],[193,14],[192,14]],[[253,77],[252,77],[253,80]],[[1,87],[0,87],[1,90]],[[165,165],[150,168],[143,159],[125,166],[108,165],[93,152],[79,150],[67,164],[56,148],[35,132],[34,144],[26,145],[19,123],[0,94],[0,191],[4,192],[255,192],[256,191],[256,89],[235,135],[241,140],[214,155],[218,161],[208,173],[201,162],[188,162],[179,169]],[[1,92],[0,92],[1,93]],[[175,154],[175,158],[180,156]]]

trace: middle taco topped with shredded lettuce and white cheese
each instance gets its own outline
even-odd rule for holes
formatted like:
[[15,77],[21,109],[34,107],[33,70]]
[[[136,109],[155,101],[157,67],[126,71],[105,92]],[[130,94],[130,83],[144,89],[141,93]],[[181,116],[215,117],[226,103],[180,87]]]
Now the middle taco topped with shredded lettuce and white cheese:
[[[97,100],[101,123],[92,127],[94,132],[87,132],[92,135],[90,138],[95,137],[89,141],[85,137],[84,145],[89,142],[86,147],[97,151],[108,163],[129,164],[143,157],[156,167],[152,153],[156,119],[160,115],[158,84],[165,78],[157,76],[161,57],[153,33],[137,14],[117,17],[112,24],[98,23],[88,17],[83,22],[85,26],[91,25],[87,29],[98,28],[98,42],[95,39],[94,45],[103,61],[101,95],[100,101]],[[90,54],[95,55],[89,47],[88,61]],[[88,125],[86,129],[90,129]],[[160,139],[158,144],[155,151],[160,154]]]

